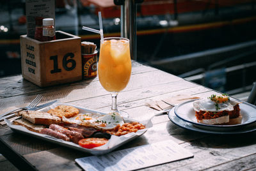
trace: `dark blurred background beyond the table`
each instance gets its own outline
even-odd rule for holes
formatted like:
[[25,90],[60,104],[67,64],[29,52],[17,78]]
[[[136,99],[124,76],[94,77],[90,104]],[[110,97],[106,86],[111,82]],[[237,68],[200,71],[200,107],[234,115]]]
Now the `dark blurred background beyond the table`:
[[[227,94],[248,93],[256,81],[255,0],[144,0],[137,4],[137,61]],[[0,77],[21,73],[25,0],[0,1]],[[55,0],[56,30],[92,41],[99,29],[120,36],[113,0]]]

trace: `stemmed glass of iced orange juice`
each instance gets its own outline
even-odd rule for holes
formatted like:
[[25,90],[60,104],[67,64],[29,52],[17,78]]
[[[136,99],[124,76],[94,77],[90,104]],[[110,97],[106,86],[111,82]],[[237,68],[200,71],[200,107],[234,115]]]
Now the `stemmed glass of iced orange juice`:
[[116,97],[128,84],[131,68],[130,45],[127,38],[104,38],[100,42],[98,66],[100,84],[111,93],[111,112],[118,112],[123,117],[129,115],[118,111]]

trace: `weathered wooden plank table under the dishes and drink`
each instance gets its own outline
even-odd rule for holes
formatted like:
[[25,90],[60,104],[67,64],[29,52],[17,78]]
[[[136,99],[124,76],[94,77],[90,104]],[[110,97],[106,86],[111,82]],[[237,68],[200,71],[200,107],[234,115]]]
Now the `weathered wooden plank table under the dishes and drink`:
[[[24,80],[21,75],[17,75],[0,78],[0,85],[1,113],[28,104],[36,94],[44,95],[42,103],[59,100],[103,112],[108,112],[111,107],[111,96],[102,88],[98,78],[40,88]],[[118,94],[118,107],[129,112],[130,117],[136,118],[156,112],[145,106],[148,101],[170,98],[177,94],[205,97],[212,93],[215,92],[201,85],[133,62],[129,85]],[[168,115],[154,117],[152,122],[154,126],[144,135],[118,149],[173,140],[191,151],[194,157],[143,170],[254,170],[256,168],[256,131],[240,135],[199,133],[176,126],[168,119]],[[82,170],[74,160],[90,156],[74,149],[15,133],[6,126],[0,128],[0,152],[15,167],[29,170]]]

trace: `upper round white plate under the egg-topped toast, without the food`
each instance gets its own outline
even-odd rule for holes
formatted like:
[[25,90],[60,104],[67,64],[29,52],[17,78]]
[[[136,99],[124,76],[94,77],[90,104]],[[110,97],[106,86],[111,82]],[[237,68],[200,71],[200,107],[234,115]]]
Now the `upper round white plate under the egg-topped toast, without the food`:
[[234,125],[212,125],[212,124],[203,124],[198,123],[195,116],[195,110],[193,108],[193,101],[190,100],[184,103],[180,103],[175,107],[174,113],[180,119],[194,124],[198,128],[207,129],[207,130],[219,130],[219,131],[231,131],[241,128],[241,126],[246,126],[248,124],[252,124],[256,121],[256,107],[255,105],[251,105],[250,103],[240,103],[239,107],[241,109],[241,115],[243,115],[242,123],[241,124],[234,124]]

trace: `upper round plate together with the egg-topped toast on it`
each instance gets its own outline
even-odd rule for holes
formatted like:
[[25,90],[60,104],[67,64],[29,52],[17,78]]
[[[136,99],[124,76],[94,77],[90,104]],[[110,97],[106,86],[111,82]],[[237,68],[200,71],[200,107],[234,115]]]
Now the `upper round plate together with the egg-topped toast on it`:
[[256,121],[254,105],[231,100],[226,94],[180,103],[174,113],[198,128],[214,131],[235,130]]

